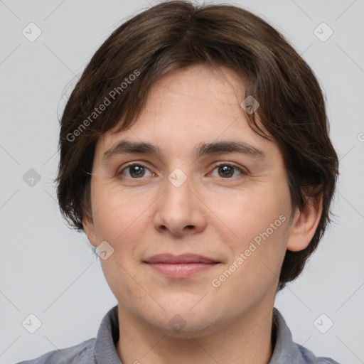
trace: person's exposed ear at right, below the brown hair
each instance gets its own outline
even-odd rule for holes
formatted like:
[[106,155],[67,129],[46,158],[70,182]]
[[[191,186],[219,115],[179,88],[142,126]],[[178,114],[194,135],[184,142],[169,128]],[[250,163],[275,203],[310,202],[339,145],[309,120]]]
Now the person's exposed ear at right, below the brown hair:
[[287,250],[304,250],[314,237],[322,213],[322,195],[306,198],[304,208],[296,209],[287,239]]

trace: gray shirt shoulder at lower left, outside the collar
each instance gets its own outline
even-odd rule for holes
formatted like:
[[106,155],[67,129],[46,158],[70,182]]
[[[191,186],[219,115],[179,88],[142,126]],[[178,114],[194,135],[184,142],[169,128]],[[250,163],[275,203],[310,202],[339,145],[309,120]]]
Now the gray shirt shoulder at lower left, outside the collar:
[[52,350],[38,358],[17,364],[91,364],[93,363],[92,346],[94,342],[95,338],[90,338],[75,346],[70,346],[70,348]]

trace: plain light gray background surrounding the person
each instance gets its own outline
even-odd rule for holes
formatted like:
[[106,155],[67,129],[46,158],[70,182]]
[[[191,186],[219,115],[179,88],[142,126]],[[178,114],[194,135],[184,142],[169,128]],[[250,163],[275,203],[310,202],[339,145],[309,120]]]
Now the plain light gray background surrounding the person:
[[[58,116],[109,33],[156,2],[0,1],[0,363],[95,337],[117,304],[87,238],[67,228],[55,200]],[[364,0],[227,3],[262,16],[311,65],[341,159],[336,220],[275,306],[296,343],[339,363],[364,363]],[[22,33],[31,22],[41,30],[35,41]],[[41,177],[33,186],[23,179],[31,168]],[[29,314],[42,323],[33,334],[22,326]],[[328,320],[333,326],[321,333],[317,322],[324,331]]]

